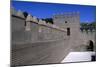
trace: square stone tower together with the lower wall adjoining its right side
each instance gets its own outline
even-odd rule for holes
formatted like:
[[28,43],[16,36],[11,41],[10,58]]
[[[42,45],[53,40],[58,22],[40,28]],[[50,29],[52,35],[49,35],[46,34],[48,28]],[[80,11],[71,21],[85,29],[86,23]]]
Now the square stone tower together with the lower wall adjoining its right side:
[[92,40],[95,45],[95,29],[94,30],[80,30],[80,14],[79,12],[61,13],[53,16],[55,25],[64,28],[70,28],[69,44],[73,49],[89,45],[88,41]]

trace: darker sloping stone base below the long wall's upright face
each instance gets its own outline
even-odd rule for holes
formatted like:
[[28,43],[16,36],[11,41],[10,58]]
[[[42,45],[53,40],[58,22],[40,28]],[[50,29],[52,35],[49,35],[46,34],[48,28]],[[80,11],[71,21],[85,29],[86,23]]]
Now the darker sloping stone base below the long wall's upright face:
[[60,63],[69,53],[68,47],[66,40],[12,46],[12,65]]

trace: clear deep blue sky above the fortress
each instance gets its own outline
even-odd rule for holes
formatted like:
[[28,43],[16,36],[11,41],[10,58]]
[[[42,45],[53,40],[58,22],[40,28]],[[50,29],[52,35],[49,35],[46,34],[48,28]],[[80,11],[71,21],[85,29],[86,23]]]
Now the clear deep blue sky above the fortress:
[[53,14],[65,12],[80,12],[80,22],[96,20],[96,6],[12,1],[11,6],[16,10],[26,11],[38,18],[50,18]]

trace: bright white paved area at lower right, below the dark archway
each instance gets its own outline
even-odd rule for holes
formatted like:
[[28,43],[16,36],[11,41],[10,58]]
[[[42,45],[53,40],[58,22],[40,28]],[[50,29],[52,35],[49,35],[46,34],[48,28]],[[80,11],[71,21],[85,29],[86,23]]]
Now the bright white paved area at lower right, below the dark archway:
[[91,61],[92,55],[95,55],[95,52],[70,52],[61,63]]

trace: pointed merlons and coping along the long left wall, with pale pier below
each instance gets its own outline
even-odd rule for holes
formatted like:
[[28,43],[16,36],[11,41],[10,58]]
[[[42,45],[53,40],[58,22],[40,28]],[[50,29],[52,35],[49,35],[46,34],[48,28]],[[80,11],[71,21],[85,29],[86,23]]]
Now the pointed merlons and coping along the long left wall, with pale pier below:
[[16,11],[14,8],[11,9],[11,15],[19,17],[19,18],[23,18],[26,22],[26,30],[31,30],[30,28],[30,23],[36,23],[38,25],[43,25],[46,27],[50,27],[50,28],[54,28],[57,30],[61,30],[61,31],[65,31],[65,29],[60,28],[54,24],[50,24],[50,23],[46,23],[46,21],[42,20],[42,19],[37,19],[35,16],[32,16],[31,14],[28,14],[27,17],[25,18],[24,13],[21,10]]

